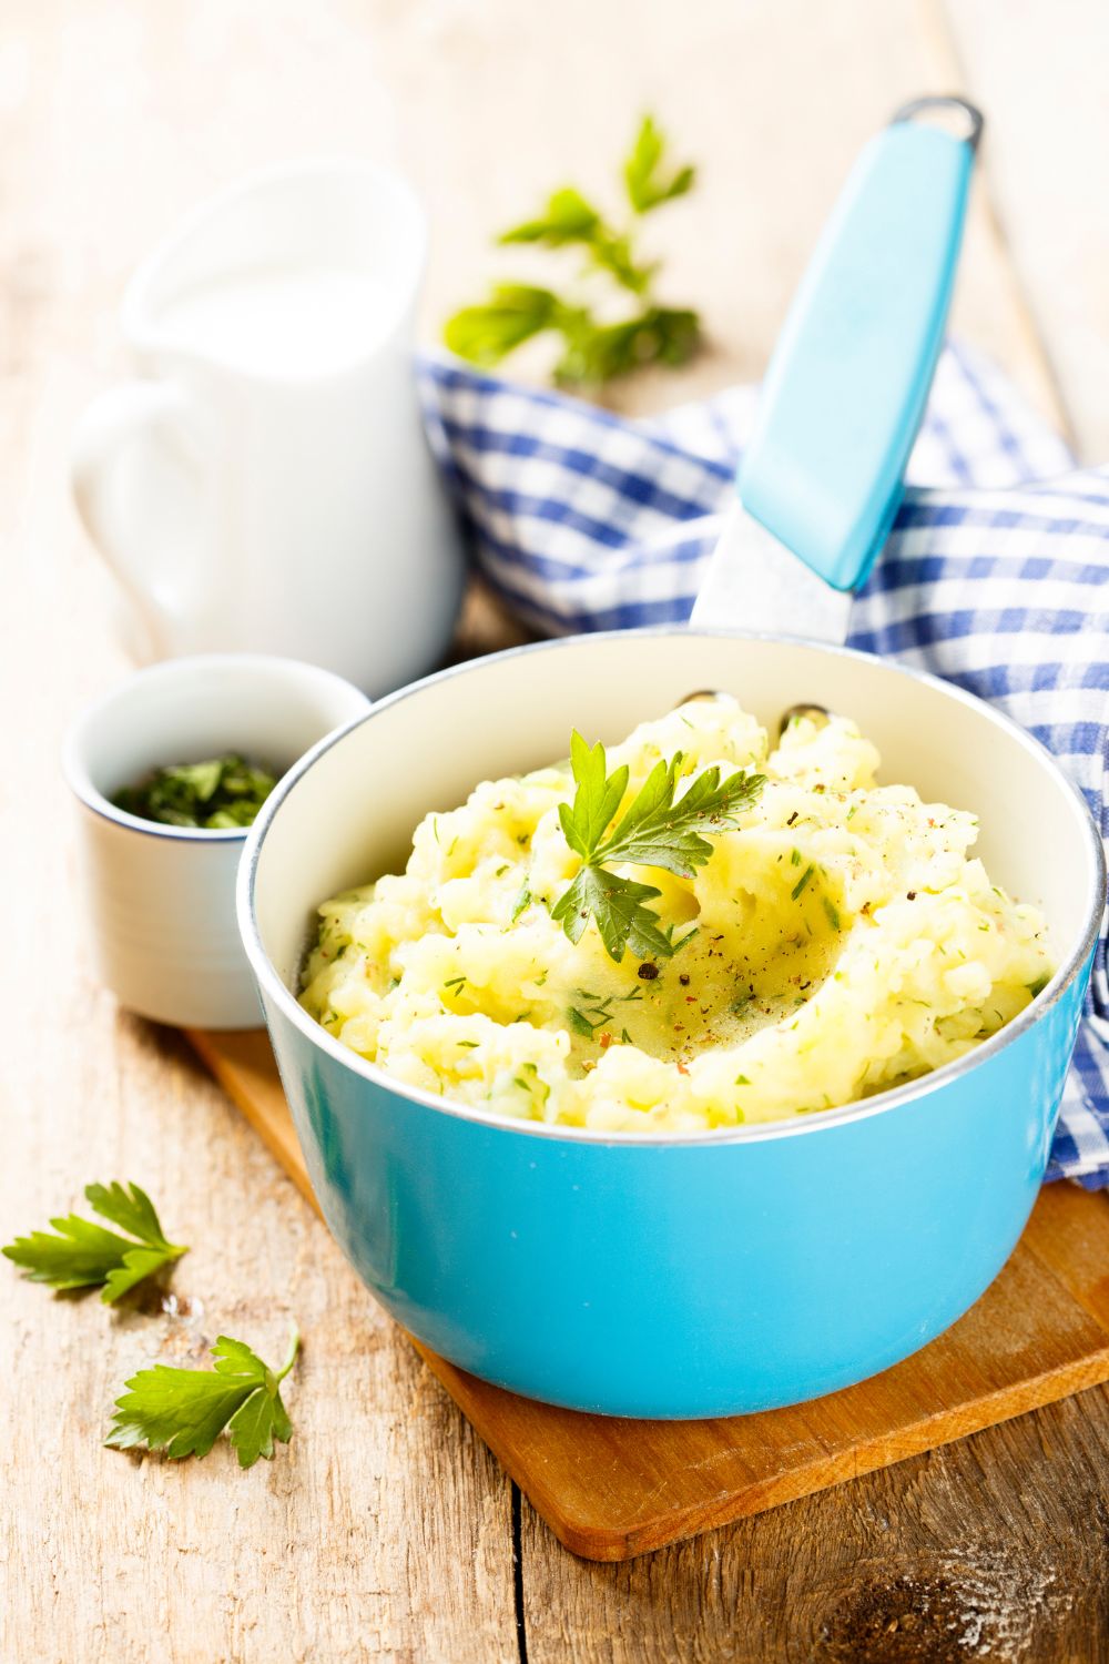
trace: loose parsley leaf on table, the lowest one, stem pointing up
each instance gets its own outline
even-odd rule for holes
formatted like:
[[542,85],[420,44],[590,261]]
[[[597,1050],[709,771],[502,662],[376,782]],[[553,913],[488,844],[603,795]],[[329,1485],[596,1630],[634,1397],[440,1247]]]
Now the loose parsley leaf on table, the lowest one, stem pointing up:
[[279,1369],[268,1364],[243,1341],[221,1335],[211,1348],[214,1369],[175,1369],[156,1363],[140,1369],[121,1398],[105,1444],[128,1451],[146,1444],[181,1456],[206,1456],[226,1428],[238,1451],[239,1468],[253,1468],[259,1456],[273,1458],[273,1441],[288,1444],[293,1423],[281,1403],[281,1383],[293,1368],[301,1336],[289,1336],[289,1351]]

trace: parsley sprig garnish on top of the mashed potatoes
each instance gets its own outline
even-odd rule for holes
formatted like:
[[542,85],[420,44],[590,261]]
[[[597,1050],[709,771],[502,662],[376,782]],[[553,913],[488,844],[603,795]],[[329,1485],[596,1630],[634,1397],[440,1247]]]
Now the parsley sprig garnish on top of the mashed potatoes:
[[675,942],[673,927],[663,925],[647,905],[662,890],[619,877],[610,870],[612,864],[662,867],[680,879],[692,879],[712,855],[705,834],[738,825],[738,815],[758,802],[766,784],[765,775],[742,769],[722,780],[720,767],[713,764],[678,797],[682,762],[682,752],[668,762],[660,759],[605,837],[624,802],[628,767],[620,764],[609,774],[604,745],[589,745],[574,730],[570,769],[577,790],[572,804],[559,804],[559,819],[567,844],[582,857],[582,867],[550,909],[550,917],[570,942],[580,942],[594,919],[605,952],[617,962],[628,947],[643,958],[668,958],[682,947],[683,938]]

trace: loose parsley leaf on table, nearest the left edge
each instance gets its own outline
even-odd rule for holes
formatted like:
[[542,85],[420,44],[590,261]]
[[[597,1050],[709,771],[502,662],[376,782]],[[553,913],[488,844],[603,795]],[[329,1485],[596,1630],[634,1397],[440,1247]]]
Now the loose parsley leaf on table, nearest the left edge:
[[50,1220],[57,1235],[32,1231],[3,1248],[5,1258],[22,1266],[32,1283],[67,1290],[103,1285],[100,1298],[110,1306],[136,1283],[188,1253],[188,1248],[166,1240],[153,1201],[138,1185],[86,1185],[85,1196],[101,1220],[118,1225],[128,1236],[76,1213]]

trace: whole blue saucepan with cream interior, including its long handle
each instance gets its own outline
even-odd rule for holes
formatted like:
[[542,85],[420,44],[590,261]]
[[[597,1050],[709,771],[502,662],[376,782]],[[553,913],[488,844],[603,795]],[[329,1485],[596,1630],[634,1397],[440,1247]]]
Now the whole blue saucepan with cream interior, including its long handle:
[[[309,752],[248,842],[239,922],[324,1216],[419,1340],[519,1393],[715,1416],[860,1381],[978,1300],[1042,1180],[1102,910],[1086,805],[1038,744],[953,687],[715,627],[843,629],[943,333],[979,128],[958,111],[963,138],[906,108],[850,181],[771,364],[698,627],[499,654],[394,694]],[[796,704],[850,716],[886,779],[981,817],[991,874],[1042,907],[1059,965],[1016,1022],[865,1103],[675,1138],[479,1115],[401,1085],[299,1008],[319,902],[396,870],[424,814],[565,755],[574,727],[615,742],[705,687],[771,732]]]

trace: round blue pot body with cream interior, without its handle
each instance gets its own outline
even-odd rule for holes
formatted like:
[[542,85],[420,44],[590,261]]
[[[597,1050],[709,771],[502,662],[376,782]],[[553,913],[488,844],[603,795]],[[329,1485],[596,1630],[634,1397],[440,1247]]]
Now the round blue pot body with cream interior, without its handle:
[[[482,1117],[397,1083],[301,1010],[318,904],[396,870],[427,810],[564,755],[575,724],[614,742],[700,687],[771,732],[798,701],[845,712],[885,779],[973,809],[994,880],[1047,917],[1049,987],[909,1087],[687,1138]],[[996,711],[865,654],[670,629],[497,654],[384,699],[269,799],[239,920],[313,1186],[376,1298],[519,1393],[713,1416],[886,1368],[1001,1270],[1044,1175],[1102,895],[1081,795]]]

